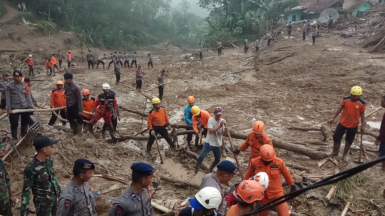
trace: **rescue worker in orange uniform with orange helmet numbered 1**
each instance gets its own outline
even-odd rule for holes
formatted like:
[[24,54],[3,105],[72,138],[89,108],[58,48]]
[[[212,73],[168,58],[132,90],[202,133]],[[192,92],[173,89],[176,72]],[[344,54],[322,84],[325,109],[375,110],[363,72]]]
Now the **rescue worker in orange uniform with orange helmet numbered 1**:
[[246,141],[239,146],[238,149],[234,151],[236,155],[238,155],[241,151],[245,151],[251,146],[251,154],[249,156],[249,164],[251,159],[258,158],[260,156],[259,149],[261,146],[267,144],[273,146],[271,139],[268,135],[264,134],[263,131],[265,129],[265,125],[262,121],[256,121],[253,125],[253,131],[249,133]]

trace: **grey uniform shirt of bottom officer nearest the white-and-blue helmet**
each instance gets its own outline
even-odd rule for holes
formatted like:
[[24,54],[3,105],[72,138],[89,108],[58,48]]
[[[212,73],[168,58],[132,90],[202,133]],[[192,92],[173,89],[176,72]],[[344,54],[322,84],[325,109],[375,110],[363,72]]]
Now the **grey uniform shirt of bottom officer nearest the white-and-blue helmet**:
[[112,204],[108,216],[153,216],[151,195],[143,188],[140,194],[135,194],[131,186],[127,188]]

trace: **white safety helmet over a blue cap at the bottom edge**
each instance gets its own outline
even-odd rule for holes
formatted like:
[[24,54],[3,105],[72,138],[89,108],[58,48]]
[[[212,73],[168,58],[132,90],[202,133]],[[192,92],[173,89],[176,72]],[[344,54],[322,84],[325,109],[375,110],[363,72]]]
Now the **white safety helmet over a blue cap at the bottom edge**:
[[204,187],[195,194],[195,199],[189,199],[189,203],[194,209],[215,209],[218,211],[222,203],[222,195],[214,187]]

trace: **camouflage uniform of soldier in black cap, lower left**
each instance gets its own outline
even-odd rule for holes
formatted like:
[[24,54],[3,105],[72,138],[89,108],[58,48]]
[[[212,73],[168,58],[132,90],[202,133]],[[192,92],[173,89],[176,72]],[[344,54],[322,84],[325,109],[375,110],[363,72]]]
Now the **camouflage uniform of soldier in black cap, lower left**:
[[41,162],[35,156],[25,167],[20,216],[27,216],[29,213],[31,189],[36,216],[55,216],[57,198],[62,191],[55,177],[52,158],[48,157]]

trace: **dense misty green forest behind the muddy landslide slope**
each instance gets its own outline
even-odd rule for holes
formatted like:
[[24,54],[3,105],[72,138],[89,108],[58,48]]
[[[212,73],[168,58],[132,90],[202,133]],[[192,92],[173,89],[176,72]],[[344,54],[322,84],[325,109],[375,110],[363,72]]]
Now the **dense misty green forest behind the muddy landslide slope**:
[[[28,0],[27,10],[87,43],[117,47],[169,41],[178,47],[215,40],[257,38],[277,25],[298,0],[200,0],[208,17],[188,12],[188,0]],[[12,5],[21,3],[12,0]],[[26,18],[27,19],[27,18]],[[285,20],[285,19],[282,19]],[[30,20],[27,20],[30,22]],[[55,23],[55,24],[54,24]]]

